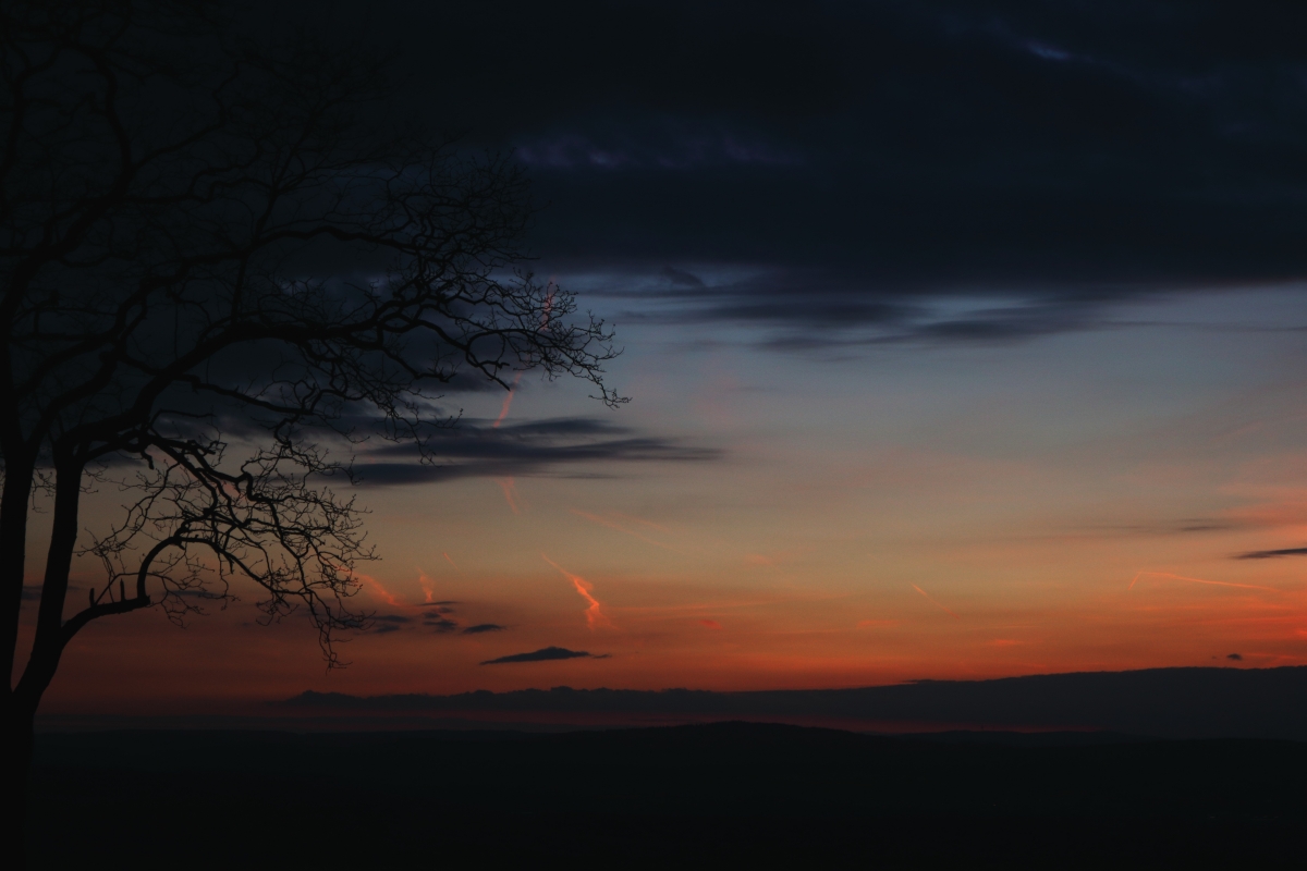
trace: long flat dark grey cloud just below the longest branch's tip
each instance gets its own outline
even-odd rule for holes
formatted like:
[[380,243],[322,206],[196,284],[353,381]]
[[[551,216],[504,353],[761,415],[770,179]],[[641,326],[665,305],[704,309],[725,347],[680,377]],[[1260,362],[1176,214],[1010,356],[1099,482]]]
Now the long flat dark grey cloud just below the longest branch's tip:
[[561,466],[591,462],[702,462],[720,451],[674,439],[637,435],[595,418],[561,418],[491,427],[464,420],[427,441],[434,461],[420,464],[412,445],[371,451],[354,465],[362,484],[386,486],[468,477],[562,474]]

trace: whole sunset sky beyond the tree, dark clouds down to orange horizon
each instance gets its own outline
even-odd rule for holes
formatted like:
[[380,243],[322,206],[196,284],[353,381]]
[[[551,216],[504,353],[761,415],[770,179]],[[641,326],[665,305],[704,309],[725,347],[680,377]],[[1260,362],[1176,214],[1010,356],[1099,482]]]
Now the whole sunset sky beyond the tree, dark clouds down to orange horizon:
[[363,445],[348,669],[237,590],[94,623],[44,710],[1307,663],[1307,9],[448,5],[320,24],[528,170],[631,402]]

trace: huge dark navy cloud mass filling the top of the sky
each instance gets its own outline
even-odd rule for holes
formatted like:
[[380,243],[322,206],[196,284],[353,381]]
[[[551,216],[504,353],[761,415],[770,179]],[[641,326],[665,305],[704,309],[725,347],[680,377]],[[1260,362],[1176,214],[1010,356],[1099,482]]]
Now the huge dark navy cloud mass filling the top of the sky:
[[[776,328],[776,347],[833,323],[1010,342],[1158,291],[1307,277],[1300,4],[374,8],[405,21],[376,35],[406,99],[529,167],[548,268],[663,282],[686,303],[661,316]],[[431,63],[431,33],[550,63],[488,69],[480,39]],[[711,277],[728,266],[765,281]],[[951,316],[945,295],[1004,302]]]

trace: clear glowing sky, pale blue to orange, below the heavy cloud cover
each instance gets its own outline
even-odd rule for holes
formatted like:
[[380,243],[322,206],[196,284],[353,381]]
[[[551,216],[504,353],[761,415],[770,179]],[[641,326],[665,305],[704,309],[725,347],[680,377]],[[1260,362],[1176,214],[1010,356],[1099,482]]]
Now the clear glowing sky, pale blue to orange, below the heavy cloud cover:
[[[1261,302],[1268,320],[1295,304]],[[348,637],[348,669],[324,670],[298,616],[260,626],[237,586],[186,628],[157,610],[94,623],[43,710],[1307,663],[1307,558],[1239,559],[1307,545],[1297,333],[1137,328],[853,360],[625,338],[629,407],[527,376],[457,397],[465,419],[600,417],[711,456],[363,487],[383,559],[359,565],[356,605],[391,628]],[[88,525],[116,500],[88,496]],[[88,560],[73,584],[102,580]],[[448,626],[422,622],[433,603]],[[606,657],[480,665],[546,646]]]

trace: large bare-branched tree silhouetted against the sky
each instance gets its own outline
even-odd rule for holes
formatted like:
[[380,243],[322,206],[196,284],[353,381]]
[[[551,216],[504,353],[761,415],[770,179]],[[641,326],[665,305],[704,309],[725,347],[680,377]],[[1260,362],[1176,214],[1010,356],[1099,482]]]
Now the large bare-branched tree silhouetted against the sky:
[[[520,170],[410,123],[383,64],[307,37],[242,42],[204,3],[0,14],[10,675],[29,520],[38,496],[52,505],[34,641],[4,700],[17,795],[42,693],[91,620],[178,616],[240,576],[269,619],[303,609],[339,665],[332,633],[363,624],[349,595],[372,554],[328,486],[349,475],[333,444],[408,440],[431,461],[431,427],[450,423],[435,400],[469,373],[578,375],[622,400],[603,383],[604,324],[514,272],[532,214]],[[95,481],[135,495],[80,539]],[[80,552],[108,577],[71,609]]]

